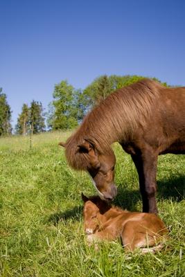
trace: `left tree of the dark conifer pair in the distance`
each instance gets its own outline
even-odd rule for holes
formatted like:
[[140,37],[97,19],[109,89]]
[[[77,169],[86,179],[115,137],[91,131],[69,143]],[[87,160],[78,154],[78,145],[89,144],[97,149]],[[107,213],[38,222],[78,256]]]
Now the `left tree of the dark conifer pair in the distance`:
[[17,134],[23,134],[26,136],[30,127],[29,123],[29,108],[27,104],[23,104],[21,114],[17,118],[17,125],[15,126],[15,132]]

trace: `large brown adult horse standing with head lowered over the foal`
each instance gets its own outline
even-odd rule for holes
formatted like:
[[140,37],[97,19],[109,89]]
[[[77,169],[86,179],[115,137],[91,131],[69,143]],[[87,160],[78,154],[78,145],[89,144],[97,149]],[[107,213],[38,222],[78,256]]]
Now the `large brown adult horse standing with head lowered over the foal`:
[[102,199],[116,196],[110,147],[116,141],[136,166],[143,212],[157,213],[157,157],[185,153],[185,87],[143,79],[118,89],[85,117],[67,143],[60,143],[69,165],[89,172]]

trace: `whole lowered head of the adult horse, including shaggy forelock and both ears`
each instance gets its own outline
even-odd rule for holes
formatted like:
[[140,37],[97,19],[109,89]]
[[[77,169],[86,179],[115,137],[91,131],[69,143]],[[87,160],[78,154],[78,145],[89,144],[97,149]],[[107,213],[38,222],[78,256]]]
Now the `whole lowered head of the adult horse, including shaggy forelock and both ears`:
[[73,168],[89,172],[98,195],[103,200],[116,197],[117,188],[114,185],[114,166],[116,158],[112,148],[106,152],[99,151],[96,145],[83,139],[82,143],[74,145],[73,137],[67,143],[59,143],[66,148],[67,160]]

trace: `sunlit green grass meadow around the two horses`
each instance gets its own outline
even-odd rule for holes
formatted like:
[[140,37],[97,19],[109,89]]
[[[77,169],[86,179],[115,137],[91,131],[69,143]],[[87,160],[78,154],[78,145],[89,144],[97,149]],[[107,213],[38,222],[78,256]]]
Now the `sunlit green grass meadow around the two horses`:
[[[163,251],[124,253],[119,242],[88,247],[81,192],[95,193],[85,172],[67,166],[58,147],[69,133],[0,139],[0,276],[185,276],[185,156],[159,157],[159,215],[170,230]],[[114,200],[141,211],[136,170],[118,144]]]

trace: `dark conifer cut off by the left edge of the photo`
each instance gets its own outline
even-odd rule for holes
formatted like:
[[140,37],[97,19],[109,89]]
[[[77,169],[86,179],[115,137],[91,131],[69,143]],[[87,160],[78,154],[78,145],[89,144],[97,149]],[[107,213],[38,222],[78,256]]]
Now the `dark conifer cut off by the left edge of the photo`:
[[10,105],[8,105],[6,94],[0,88],[0,136],[12,133]]

